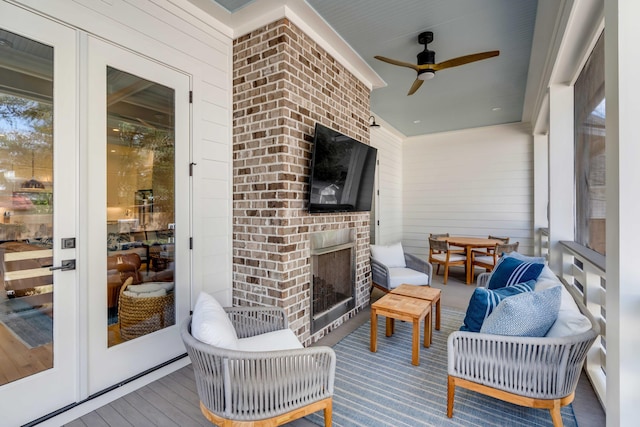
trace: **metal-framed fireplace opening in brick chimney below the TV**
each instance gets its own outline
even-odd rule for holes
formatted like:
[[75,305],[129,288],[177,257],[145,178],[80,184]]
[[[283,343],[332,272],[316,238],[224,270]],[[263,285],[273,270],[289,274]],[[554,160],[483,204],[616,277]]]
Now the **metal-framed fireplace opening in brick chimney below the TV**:
[[325,233],[320,233],[324,238],[312,239],[311,333],[355,307],[353,233],[337,230],[329,238]]

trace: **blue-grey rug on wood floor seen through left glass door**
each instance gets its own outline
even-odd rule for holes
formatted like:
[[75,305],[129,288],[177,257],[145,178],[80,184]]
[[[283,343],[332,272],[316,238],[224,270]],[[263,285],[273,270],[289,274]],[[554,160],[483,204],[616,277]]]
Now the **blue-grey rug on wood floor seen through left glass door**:
[[0,323],[28,348],[53,341],[53,319],[41,307],[33,307],[20,299],[0,303]]

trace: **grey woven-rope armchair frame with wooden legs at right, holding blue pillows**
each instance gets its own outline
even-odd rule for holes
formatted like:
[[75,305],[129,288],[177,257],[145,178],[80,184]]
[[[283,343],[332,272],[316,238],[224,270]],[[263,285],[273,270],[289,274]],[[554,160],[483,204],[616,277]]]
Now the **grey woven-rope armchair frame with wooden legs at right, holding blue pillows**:
[[[489,273],[478,276],[484,286]],[[456,331],[448,338],[447,416],[453,416],[455,387],[507,402],[549,409],[554,426],[562,426],[560,407],[573,401],[587,352],[599,327],[568,286],[591,329],[564,337],[515,337]],[[564,292],[564,291],[563,291]]]

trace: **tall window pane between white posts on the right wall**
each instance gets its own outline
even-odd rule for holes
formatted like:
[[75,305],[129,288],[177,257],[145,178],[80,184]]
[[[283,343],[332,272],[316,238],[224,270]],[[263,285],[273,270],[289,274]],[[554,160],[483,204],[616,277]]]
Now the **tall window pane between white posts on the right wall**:
[[575,84],[576,242],[606,252],[604,35]]

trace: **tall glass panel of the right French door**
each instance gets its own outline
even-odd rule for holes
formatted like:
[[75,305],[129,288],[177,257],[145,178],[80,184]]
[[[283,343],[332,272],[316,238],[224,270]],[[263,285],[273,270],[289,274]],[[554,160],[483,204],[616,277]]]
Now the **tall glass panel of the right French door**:
[[175,91],[106,73],[111,347],[175,324]]

